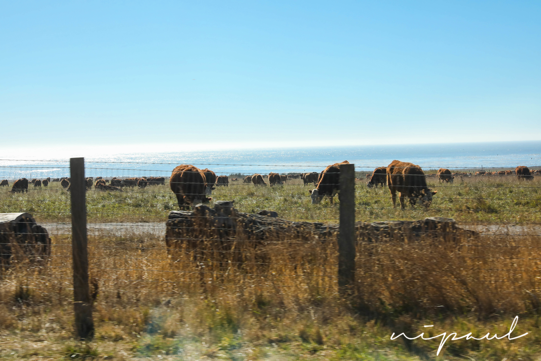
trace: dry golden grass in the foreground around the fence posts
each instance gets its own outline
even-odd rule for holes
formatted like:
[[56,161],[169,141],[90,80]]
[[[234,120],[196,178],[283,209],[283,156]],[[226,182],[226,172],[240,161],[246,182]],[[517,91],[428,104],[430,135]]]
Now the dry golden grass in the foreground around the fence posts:
[[531,332],[528,337],[448,342],[445,359],[540,355],[537,236],[361,243],[354,293],[346,299],[337,290],[334,237],[258,246],[241,234],[235,239],[233,251],[203,252],[195,262],[185,247],[168,254],[161,238],[90,237],[96,337],[84,345],[72,333],[70,239],[54,237],[47,266],[23,261],[3,271],[0,355],[436,358],[439,340],[389,337],[417,335],[427,324],[435,325],[432,334],[501,336],[516,315],[513,335]]

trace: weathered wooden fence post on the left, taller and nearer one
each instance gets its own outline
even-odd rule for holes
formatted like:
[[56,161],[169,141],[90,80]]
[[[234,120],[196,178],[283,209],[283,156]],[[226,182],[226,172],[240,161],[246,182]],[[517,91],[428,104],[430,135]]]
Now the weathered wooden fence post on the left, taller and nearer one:
[[80,339],[94,337],[92,303],[88,289],[87,204],[84,158],[70,158],[71,250],[75,329]]

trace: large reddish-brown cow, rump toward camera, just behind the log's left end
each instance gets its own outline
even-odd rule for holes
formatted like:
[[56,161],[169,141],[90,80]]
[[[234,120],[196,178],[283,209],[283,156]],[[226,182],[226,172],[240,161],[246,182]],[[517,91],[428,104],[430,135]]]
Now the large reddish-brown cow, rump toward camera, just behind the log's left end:
[[175,193],[181,210],[212,200],[206,196],[207,180],[204,173],[195,166],[183,164],[173,169],[169,186]]

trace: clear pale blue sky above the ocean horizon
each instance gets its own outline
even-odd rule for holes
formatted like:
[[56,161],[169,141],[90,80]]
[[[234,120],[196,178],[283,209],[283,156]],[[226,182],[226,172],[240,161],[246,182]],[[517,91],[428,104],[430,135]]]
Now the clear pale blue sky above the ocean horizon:
[[541,2],[0,2],[0,150],[541,139]]

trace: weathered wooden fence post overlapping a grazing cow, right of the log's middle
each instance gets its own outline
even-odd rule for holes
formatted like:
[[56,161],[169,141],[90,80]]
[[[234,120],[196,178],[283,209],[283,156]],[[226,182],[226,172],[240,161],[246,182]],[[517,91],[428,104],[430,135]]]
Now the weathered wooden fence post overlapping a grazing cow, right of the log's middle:
[[351,292],[355,280],[355,165],[340,165],[340,235],[338,238],[338,287]]

